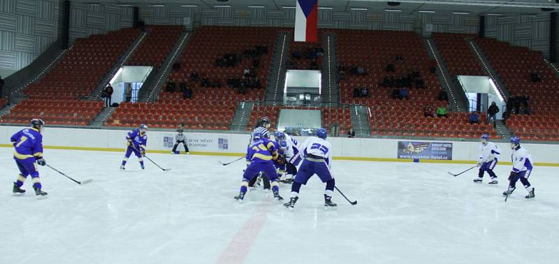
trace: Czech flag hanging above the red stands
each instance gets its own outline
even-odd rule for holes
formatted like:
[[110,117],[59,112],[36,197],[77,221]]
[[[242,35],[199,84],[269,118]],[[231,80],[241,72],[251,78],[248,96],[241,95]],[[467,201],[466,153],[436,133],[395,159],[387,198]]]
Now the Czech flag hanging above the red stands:
[[295,41],[317,41],[318,2],[318,0],[297,0]]

